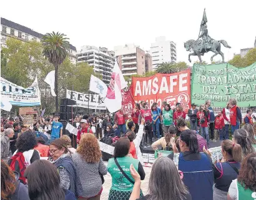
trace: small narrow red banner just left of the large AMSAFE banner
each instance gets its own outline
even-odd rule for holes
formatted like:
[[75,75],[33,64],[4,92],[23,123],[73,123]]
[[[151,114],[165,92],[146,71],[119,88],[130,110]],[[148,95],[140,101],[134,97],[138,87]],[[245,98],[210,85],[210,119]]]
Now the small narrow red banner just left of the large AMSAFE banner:
[[[129,88],[131,90],[131,88]],[[122,111],[124,112],[124,117],[126,120],[128,119],[129,115],[132,115],[132,95],[129,90],[122,90]]]

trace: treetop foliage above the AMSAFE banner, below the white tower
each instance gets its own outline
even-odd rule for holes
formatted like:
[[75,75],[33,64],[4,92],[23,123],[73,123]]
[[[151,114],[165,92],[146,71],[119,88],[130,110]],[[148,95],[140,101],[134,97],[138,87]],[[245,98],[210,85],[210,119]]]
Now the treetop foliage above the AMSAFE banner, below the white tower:
[[189,66],[185,62],[171,63],[171,62],[163,62],[157,66],[157,73],[161,74],[171,74],[175,72],[180,72],[186,70]]

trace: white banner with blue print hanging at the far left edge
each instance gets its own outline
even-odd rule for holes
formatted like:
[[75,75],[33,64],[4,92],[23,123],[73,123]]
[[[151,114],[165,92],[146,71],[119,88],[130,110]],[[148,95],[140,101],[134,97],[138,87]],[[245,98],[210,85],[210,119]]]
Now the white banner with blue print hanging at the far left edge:
[[18,86],[1,77],[1,98],[7,98],[11,105],[21,107],[41,105],[37,77],[28,88]]

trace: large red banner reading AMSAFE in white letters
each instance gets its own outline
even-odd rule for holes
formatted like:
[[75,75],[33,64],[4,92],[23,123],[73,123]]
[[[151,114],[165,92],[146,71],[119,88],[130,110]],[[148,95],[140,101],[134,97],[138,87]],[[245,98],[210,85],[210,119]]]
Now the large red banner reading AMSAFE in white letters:
[[155,74],[151,77],[132,77],[132,95],[135,102],[144,100],[157,102],[159,107],[163,101],[170,106],[181,103],[184,110],[190,107],[190,70],[174,74]]

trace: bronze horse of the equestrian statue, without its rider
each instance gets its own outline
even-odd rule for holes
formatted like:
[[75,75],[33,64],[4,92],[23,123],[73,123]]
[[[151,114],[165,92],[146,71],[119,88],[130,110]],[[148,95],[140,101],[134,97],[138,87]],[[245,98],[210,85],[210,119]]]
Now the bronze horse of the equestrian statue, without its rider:
[[215,40],[211,39],[209,45],[204,45],[203,40],[188,40],[187,42],[184,42],[184,47],[187,51],[192,50],[192,53],[189,54],[189,62],[190,55],[197,55],[199,57],[200,63],[202,63],[201,55],[204,55],[204,53],[207,53],[209,51],[214,52],[215,54],[210,57],[210,61],[214,59],[214,57],[218,54],[222,56],[222,62],[224,62],[224,54],[220,51],[220,44],[223,44],[226,48],[231,48],[225,40]]

